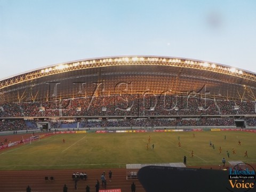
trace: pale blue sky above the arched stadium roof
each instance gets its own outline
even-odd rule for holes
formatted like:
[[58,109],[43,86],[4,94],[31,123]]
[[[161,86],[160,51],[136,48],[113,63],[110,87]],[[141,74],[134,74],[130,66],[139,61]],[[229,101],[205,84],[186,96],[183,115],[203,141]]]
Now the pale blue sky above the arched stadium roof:
[[58,63],[158,55],[256,73],[254,0],[0,0],[0,79]]

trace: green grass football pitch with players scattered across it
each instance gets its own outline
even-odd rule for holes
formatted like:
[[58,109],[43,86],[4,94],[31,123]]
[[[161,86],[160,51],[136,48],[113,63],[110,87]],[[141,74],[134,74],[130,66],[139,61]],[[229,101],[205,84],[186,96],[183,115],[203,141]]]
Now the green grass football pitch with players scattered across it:
[[[151,141],[147,150],[149,135]],[[219,165],[223,157],[227,161],[250,164],[256,163],[255,136],[255,133],[240,131],[58,134],[31,145],[0,151],[0,170],[124,168],[126,164],[135,163],[183,162],[184,155],[187,166]],[[215,150],[210,147],[210,141]],[[151,148],[153,143],[154,149]],[[235,155],[232,148],[236,150]],[[194,157],[191,157],[191,150],[194,150]],[[245,150],[248,158],[244,157]]]

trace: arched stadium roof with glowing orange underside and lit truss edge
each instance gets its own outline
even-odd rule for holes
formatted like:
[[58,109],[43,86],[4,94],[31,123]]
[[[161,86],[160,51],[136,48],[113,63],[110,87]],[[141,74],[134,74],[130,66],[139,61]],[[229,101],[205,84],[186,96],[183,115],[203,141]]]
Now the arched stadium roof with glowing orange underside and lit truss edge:
[[256,74],[200,60],[134,55],[60,63],[0,81],[1,103],[145,93],[255,101]]

